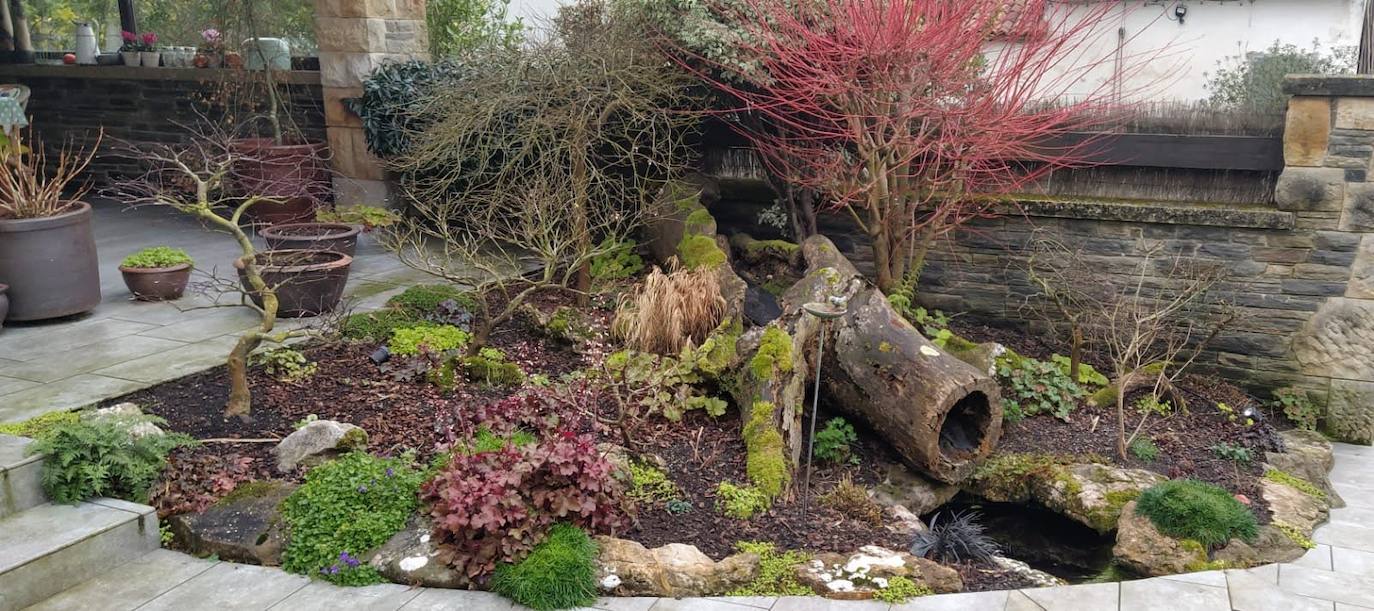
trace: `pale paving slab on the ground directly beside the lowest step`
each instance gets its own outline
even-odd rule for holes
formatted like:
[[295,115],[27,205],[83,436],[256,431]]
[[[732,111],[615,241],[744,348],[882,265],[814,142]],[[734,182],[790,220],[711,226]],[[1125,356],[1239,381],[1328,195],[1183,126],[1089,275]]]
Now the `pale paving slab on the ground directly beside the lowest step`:
[[95,579],[71,588],[30,611],[135,610],[169,592],[216,562],[157,549]]

